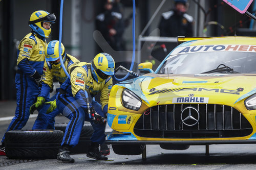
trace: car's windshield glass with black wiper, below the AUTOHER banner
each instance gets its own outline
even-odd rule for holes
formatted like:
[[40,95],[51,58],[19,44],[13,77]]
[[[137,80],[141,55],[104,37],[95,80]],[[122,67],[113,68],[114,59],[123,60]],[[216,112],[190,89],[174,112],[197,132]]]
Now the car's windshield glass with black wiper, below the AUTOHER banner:
[[[170,55],[158,74],[200,74],[220,65],[230,67],[233,73],[256,73],[256,53],[207,52]],[[219,69],[214,72],[227,73]]]

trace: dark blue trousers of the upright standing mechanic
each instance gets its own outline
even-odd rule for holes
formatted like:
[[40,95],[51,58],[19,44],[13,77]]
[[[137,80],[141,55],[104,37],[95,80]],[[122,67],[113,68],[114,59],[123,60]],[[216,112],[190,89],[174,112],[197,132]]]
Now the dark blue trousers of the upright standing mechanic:
[[[23,72],[15,76],[16,86],[16,111],[7,131],[22,129],[29,119],[29,109],[36,102],[39,87],[35,80],[26,76]],[[5,135],[2,139],[4,142]]]

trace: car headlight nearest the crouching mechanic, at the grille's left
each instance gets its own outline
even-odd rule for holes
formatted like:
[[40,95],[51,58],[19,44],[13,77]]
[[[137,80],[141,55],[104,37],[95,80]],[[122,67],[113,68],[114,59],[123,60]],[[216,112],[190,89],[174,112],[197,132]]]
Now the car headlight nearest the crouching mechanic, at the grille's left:
[[141,99],[134,94],[131,90],[123,89],[122,92],[122,105],[123,107],[131,110],[139,110],[142,104]]

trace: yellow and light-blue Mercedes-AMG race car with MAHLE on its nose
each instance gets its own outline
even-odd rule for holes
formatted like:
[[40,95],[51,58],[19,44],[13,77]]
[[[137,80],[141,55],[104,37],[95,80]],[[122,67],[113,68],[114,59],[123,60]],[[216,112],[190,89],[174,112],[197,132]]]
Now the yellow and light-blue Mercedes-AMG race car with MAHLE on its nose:
[[[184,40],[185,41],[185,40]],[[189,145],[256,143],[256,38],[195,38],[150,73],[110,92],[107,143],[116,154]]]

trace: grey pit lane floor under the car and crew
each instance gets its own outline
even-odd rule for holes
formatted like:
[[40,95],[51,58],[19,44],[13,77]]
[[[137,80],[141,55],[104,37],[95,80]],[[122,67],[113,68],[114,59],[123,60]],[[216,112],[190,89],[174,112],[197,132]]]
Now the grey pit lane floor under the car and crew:
[[[15,101],[0,101],[0,137],[3,137],[16,108]],[[29,118],[24,129],[31,129],[36,116]],[[56,123],[67,123],[64,116],[57,116]],[[0,156],[0,169],[252,169],[256,167],[256,144],[210,145],[209,155],[205,146],[190,146],[188,150],[163,150],[159,145],[146,146],[147,159],[141,155],[116,155],[112,148],[108,161],[96,161],[86,154],[71,155],[75,163],[60,163],[56,159],[15,160]]]

